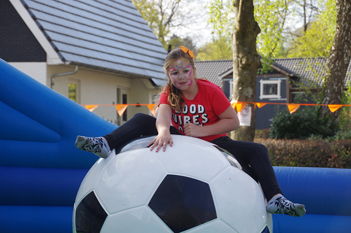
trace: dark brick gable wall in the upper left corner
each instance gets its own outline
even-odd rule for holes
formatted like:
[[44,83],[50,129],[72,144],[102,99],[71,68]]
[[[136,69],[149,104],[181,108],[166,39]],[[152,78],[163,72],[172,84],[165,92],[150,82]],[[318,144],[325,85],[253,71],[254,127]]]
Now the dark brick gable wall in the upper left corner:
[[9,0],[0,0],[0,58],[46,62],[46,53]]

